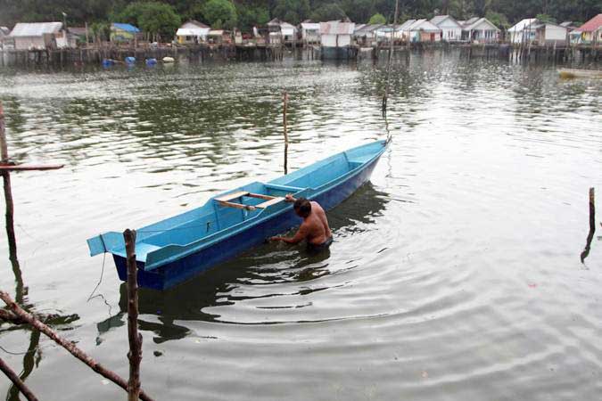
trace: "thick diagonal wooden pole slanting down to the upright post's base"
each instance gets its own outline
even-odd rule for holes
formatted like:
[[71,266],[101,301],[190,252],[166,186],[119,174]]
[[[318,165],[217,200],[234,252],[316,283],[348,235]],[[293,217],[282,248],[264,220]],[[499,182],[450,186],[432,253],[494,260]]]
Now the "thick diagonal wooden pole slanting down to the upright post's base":
[[[88,356],[84,351],[79,349],[75,343],[63,339],[59,336],[56,331],[48,327],[45,323],[37,320],[36,317],[23,310],[11,297],[4,291],[0,291],[0,299],[4,300],[4,303],[11,309],[14,315],[17,315],[21,320],[29,323],[32,327],[38,331],[43,332],[51,340],[54,340],[62,348],[65,348],[70,352],[72,356],[78,358],[84,364],[87,364],[93,371],[97,372],[106,379],[120,386],[121,389],[128,391],[128,382],[123,380],[117,373],[111,372],[105,368],[102,364],[97,363],[92,357]],[[153,401],[153,398],[149,397],[144,393],[144,390],[140,390],[140,399],[143,401]]]

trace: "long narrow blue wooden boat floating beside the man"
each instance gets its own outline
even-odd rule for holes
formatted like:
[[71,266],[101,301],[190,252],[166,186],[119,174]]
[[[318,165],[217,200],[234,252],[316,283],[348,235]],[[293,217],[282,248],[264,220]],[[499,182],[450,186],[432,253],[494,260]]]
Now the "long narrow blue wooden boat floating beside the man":
[[[332,209],[367,183],[385,141],[335,154],[268,183],[255,182],[211,198],[202,207],[136,230],[138,284],[165,290],[235,257],[266,238],[299,225],[285,195],[318,201]],[[127,281],[122,233],[87,240],[90,255],[109,252]]]

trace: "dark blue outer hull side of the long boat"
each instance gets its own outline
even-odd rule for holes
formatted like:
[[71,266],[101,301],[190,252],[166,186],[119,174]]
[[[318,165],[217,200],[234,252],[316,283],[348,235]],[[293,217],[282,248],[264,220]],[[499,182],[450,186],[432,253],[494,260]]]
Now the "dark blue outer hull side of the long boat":
[[[366,184],[379,157],[359,168],[352,176],[322,192],[308,196],[310,201],[317,201],[324,209],[333,209],[336,205],[350,197],[361,185]],[[197,253],[179,258],[172,263],[153,270],[144,270],[143,262],[138,266],[138,285],[155,290],[167,290],[181,282],[208,270],[212,266],[234,258],[244,250],[257,246],[268,237],[282,233],[301,224],[301,218],[293,213],[293,208],[287,208],[257,225],[242,230],[235,235],[225,238]],[[126,258],[113,254],[117,273],[122,281],[127,281],[128,270]]]

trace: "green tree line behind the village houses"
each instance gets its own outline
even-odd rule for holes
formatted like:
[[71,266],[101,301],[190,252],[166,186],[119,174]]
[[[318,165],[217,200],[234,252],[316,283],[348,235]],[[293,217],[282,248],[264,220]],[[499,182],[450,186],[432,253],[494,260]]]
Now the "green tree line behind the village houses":
[[[173,37],[186,20],[249,31],[273,18],[295,25],[343,18],[392,22],[394,10],[395,0],[0,0],[0,25],[65,18],[68,26],[88,22],[95,29],[106,29],[110,22],[128,22],[144,32]],[[435,14],[458,20],[485,16],[504,29],[537,15],[549,21],[584,22],[599,12],[602,0],[400,0],[400,22]]]

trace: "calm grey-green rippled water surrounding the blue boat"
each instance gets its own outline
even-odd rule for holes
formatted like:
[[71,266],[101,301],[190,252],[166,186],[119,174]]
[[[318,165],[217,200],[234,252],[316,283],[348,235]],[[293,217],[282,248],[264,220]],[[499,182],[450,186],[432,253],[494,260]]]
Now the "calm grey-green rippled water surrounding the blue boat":
[[[125,288],[86,239],[282,174],[283,90],[292,168],[383,138],[383,77],[292,60],[0,72],[15,159],[66,165],[12,176],[24,293],[4,229],[0,289],[62,315],[63,336],[126,377]],[[268,244],[142,291],[149,394],[599,399],[599,225],[579,256],[590,186],[602,197],[602,81],[425,53],[396,67],[393,90],[394,141],[371,184],[329,212],[330,253]],[[4,324],[0,346],[41,399],[125,398],[35,332]],[[17,399],[4,376],[0,393]]]

